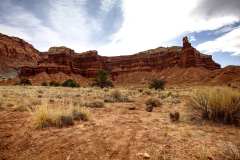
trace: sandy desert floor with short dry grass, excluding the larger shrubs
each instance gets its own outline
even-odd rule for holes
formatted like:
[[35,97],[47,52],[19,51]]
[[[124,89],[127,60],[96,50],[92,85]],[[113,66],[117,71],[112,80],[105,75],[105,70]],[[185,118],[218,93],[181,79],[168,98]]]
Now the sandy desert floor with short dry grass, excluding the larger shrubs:
[[[34,127],[34,107],[104,101],[116,89],[131,101],[88,107],[89,121],[73,126]],[[239,154],[240,128],[194,118],[187,105],[194,89],[1,86],[0,160],[232,159]],[[162,105],[147,112],[151,97]],[[169,118],[174,111],[178,122]]]

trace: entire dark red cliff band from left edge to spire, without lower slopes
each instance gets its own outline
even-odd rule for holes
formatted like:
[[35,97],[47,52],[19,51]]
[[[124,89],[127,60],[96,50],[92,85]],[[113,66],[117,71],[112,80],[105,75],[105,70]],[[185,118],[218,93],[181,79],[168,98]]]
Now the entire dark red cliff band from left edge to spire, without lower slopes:
[[111,73],[113,80],[124,73],[160,72],[164,69],[179,67],[202,67],[207,70],[220,68],[211,56],[198,52],[191,46],[187,37],[183,38],[183,47],[159,47],[130,56],[104,57],[97,51],[75,53],[66,47],[51,47],[40,53],[22,39],[0,34],[1,65],[19,70],[19,76],[29,77],[45,72],[56,74],[79,74],[95,77],[98,70]]

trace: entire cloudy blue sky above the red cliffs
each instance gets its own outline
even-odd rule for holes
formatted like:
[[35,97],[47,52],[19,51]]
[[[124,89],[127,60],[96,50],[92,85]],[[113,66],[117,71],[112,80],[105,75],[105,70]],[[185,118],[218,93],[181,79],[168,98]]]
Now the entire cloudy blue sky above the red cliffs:
[[187,35],[222,66],[240,65],[240,0],[1,0],[0,32],[40,51],[106,56],[181,45]]

